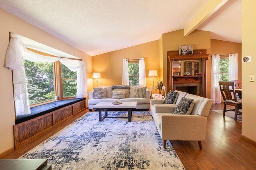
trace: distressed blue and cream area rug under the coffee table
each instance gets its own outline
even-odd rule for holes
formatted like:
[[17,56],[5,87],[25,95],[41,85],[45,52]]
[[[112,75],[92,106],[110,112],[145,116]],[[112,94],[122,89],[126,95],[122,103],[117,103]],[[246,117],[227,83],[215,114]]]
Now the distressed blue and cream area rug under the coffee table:
[[[127,112],[108,115],[127,116]],[[20,159],[47,159],[56,170],[184,169],[169,141],[163,149],[148,111],[134,111],[131,122],[99,122],[98,112],[88,112]]]

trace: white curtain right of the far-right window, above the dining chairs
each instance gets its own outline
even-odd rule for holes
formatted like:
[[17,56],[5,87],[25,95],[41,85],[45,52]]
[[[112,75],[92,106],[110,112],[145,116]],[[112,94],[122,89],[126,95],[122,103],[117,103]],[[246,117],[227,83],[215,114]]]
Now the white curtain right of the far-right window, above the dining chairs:
[[228,64],[228,78],[229,80],[238,80],[238,54],[229,55],[229,64]]

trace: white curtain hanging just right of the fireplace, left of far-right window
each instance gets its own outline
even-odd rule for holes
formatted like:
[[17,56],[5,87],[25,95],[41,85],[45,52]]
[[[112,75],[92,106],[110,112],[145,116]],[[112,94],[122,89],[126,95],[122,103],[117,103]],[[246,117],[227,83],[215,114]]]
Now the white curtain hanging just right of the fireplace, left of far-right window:
[[212,55],[212,73],[211,73],[211,99],[212,103],[221,103],[220,94],[220,55]]

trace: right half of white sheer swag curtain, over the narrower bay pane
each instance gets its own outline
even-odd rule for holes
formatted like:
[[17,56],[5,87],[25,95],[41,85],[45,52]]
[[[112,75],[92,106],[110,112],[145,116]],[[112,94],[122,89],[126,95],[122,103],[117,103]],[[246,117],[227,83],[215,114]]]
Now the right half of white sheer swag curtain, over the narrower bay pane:
[[71,60],[61,58],[60,62],[68,67],[71,71],[77,72],[77,92],[76,98],[83,98],[87,96],[87,83],[86,83],[86,67],[83,61]]

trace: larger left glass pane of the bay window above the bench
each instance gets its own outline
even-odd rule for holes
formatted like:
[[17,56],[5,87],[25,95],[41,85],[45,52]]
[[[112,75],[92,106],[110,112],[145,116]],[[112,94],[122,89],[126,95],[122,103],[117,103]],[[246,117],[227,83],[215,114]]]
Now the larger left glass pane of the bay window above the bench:
[[33,63],[25,60],[24,68],[28,78],[30,104],[54,100],[53,63]]

